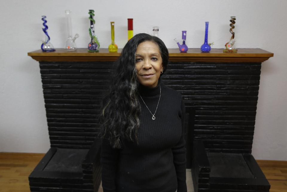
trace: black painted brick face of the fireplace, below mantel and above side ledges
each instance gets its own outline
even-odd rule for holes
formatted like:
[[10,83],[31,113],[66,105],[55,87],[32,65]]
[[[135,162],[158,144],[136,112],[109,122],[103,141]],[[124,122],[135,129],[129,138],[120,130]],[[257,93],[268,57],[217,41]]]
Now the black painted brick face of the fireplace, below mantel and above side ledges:
[[[51,145],[89,148],[113,67],[113,62],[40,62]],[[181,92],[187,108],[196,110],[193,134],[204,140],[207,151],[248,153],[260,69],[257,62],[170,62],[161,78]]]

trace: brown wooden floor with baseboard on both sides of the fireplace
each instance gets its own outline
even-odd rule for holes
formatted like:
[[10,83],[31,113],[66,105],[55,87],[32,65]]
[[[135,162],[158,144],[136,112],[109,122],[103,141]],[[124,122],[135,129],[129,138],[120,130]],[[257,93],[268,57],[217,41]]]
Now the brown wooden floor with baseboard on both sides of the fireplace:
[[[0,192],[28,192],[28,176],[44,153],[0,153]],[[257,160],[270,192],[287,192],[287,161]]]

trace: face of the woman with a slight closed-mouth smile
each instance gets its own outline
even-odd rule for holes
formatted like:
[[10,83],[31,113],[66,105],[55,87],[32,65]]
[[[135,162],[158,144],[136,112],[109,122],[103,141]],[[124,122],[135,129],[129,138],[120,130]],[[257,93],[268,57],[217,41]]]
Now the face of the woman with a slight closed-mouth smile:
[[138,44],[135,52],[138,81],[147,87],[156,87],[163,70],[161,53],[158,45],[151,41]]

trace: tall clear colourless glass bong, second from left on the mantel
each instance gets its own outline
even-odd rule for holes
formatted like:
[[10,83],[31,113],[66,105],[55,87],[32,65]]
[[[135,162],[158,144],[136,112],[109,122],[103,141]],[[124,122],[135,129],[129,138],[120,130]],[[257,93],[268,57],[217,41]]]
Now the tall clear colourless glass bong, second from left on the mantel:
[[72,21],[71,21],[71,10],[65,10],[66,20],[67,20],[67,29],[68,29],[68,39],[66,41],[65,50],[74,51],[77,50],[75,40],[79,37],[77,33],[74,38],[72,37]]

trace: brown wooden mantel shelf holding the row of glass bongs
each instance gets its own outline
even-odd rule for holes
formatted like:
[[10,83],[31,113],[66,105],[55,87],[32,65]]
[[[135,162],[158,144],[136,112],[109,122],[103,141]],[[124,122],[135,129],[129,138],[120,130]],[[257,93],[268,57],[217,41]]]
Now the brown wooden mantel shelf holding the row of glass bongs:
[[[223,49],[211,49],[210,53],[201,53],[200,49],[188,49],[187,53],[180,53],[178,49],[168,49],[172,62],[264,62],[273,53],[262,49],[238,49],[237,53],[223,53]],[[42,52],[36,50],[28,53],[36,61],[115,61],[120,56],[121,49],[117,53],[109,53],[108,49],[100,49],[98,53],[89,53],[87,48],[78,48],[68,52],[64,49],[56,49],[54,52]]]

